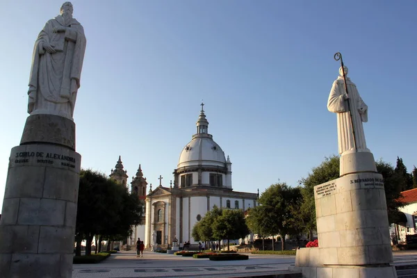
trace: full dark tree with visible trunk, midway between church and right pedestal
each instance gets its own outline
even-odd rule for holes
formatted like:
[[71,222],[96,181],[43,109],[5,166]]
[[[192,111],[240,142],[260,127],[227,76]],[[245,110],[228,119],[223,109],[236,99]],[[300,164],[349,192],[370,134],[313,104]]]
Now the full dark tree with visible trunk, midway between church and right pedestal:
[[297,216],[300,199],[300,188],[290,187],[286,183],[272,184],[259,197],[259,204],[263,206],[263,217],[268,219],[268,231],[281,235],[281,250],[285,250],[285,236],[296,234],[300,227],[295,224],[300,221]]

